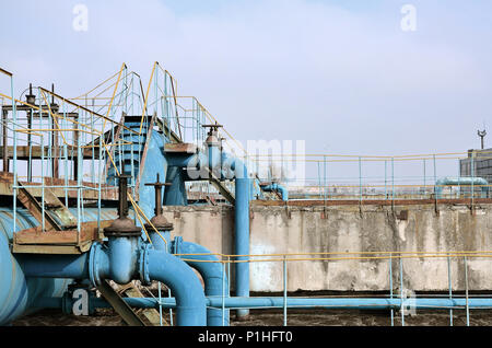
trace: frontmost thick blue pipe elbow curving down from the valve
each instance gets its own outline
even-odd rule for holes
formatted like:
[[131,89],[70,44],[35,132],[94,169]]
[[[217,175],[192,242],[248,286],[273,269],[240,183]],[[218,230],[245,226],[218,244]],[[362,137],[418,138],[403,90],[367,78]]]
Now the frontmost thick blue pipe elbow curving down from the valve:
[[179,258],[165,252],[148,248],[143,254],[144,280],[162,281],[176,295],[177,325],[206,326],[207,301],[194,270]]

